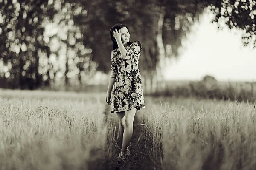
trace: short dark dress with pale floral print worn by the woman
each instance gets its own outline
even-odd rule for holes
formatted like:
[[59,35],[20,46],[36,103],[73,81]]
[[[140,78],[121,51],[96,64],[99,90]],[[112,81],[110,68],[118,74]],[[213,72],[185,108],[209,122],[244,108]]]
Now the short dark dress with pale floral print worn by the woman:
[[134,41],[126,47],[125,59],[119,48],[111,51],[111,74],[116,78],[113,85],[111,113],[145,108],[141,74],[138,68],[140,43]]

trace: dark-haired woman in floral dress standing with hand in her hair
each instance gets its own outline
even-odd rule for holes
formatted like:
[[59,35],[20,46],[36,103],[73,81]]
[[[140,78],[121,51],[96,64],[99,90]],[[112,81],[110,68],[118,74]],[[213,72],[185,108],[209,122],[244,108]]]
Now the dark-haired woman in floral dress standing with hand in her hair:
[[[141,75],[138,68],[142,45],[130,42],[128,27],[116,24],[110,29],[113,50],[111,51],[111,74],[105,102],[111,105],[111,113],[124,125],[123,141],[118,159],[130,155],[129,144],[133,133],[136,111],[145,108]],[[111,102],[111,91],[113,96]]]

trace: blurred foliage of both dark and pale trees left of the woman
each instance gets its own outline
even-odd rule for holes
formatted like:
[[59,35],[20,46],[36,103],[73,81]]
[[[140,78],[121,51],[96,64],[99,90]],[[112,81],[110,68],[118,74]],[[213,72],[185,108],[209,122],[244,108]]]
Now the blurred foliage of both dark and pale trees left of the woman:
[[63,3],[0,0],[1,87],[35,89],[71,77],[81,83],[94,73],[91,49],[72,20],[81,10]]

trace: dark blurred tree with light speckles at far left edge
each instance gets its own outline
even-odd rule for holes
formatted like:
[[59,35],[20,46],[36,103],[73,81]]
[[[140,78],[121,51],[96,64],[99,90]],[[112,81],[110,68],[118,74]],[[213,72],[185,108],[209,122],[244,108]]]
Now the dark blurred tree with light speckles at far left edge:
[[47,3],[48,0],[0,1],[1,59],[8,65],[1,77],[4,74],[8,88],[35,89],[42,85],[38,50],[49,54],[49,48],[43,41],[41,24],[46,15],[54,13]]

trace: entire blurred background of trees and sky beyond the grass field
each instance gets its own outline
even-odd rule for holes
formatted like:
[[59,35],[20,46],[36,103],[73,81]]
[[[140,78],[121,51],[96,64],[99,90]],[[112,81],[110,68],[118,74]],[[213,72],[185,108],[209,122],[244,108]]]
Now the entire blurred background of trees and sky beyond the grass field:
[[254,101],[255,0],[0,0],[0,88],[102,91],[110,28],[143,44],[144,93]]

